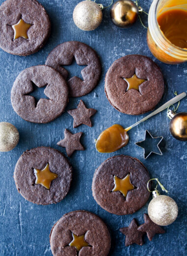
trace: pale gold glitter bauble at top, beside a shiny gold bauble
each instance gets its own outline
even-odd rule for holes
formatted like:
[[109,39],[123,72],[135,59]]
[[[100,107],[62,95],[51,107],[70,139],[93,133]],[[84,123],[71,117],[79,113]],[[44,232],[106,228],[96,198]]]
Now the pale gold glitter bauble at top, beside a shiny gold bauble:
[[75,25],[84,31],[96,29],[102,21],[102,10],[93,1],[86,0],[78,3],[73,11]]

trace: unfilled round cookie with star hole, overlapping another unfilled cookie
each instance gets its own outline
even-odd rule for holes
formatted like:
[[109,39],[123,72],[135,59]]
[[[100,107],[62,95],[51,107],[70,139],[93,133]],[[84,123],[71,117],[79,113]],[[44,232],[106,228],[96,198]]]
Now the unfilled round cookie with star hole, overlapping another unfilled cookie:
[[[46,86],[44,94],[48,99],[40,98],[36,102],[30,96],[36,86]],[[16,78],[11,91],[11,102],[16,113],[26,121],[45,124],[64,111],[68,102],[68,87],[62,75],[52,67],[31,66]]]

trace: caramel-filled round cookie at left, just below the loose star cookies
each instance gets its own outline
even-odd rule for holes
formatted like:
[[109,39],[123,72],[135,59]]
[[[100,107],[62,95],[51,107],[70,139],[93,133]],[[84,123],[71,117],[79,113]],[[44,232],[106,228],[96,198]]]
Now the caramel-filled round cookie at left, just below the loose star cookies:
[[62,153],[50,147],[27,150],[14,171],[18,192],[26,200],[43,205],[62,201],[71,179],[72,167]]

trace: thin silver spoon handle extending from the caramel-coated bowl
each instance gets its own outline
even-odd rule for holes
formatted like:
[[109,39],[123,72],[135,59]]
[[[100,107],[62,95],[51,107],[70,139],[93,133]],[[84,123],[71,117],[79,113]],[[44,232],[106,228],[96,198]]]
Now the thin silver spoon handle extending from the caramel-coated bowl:
[[170,99],[169,101],[167,101],[165,104],[163,104],[161,107],[157,108],[155,111],[153,111],[151,114],[149,114],[148,116],[142,118],[140,121],[136,122],[135,124],[133,124],[132,126],[129,126],[127,128],[125,128],[125,131],[130,130],[131,128],[139,125],[140,123],[148,120],[150,117],[155,116],[157,113],[161,112],[162,110],[166,109],[167,107],[169,107],[170,105],[176,103],[177,101],[181,100],[182,98],[186,97],[187,94],[186,93],[182,93],[177,95],[176,97]]

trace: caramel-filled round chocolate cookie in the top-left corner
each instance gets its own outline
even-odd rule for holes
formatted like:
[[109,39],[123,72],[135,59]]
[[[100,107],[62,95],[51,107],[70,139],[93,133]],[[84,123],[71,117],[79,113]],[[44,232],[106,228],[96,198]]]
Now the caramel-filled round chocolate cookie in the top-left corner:
[[26,56],[43,47],[51,32],[44,7],[36,0],[6,0],[0,5],[0,47]]

